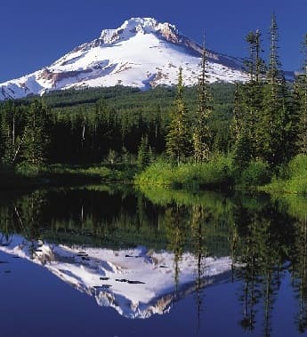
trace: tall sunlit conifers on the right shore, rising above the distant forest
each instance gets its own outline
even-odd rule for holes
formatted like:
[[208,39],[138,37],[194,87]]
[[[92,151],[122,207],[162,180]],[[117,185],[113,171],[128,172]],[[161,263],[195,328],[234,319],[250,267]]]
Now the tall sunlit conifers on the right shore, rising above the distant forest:
[[[227,146],[238,171],[243,171],[252,161],[263,161],[275,171],[296,154],[306,155],[307,36],[303,41],[303,71],[296,76],[294,84],[287,83],[281,69],[275,15],[271,19],[270,37],[269,60],[265,63],[260,30],[246,36],[249,78],[244,84],[236,84]],[[192,120],[182,96],[182,70],[178,77],[175,108],[166,135],[166,152],[177,164],[189,157],[195,162],[206,162],[216,153],[209,124],[214,109],[205,46],[203,51],[198,108]]]

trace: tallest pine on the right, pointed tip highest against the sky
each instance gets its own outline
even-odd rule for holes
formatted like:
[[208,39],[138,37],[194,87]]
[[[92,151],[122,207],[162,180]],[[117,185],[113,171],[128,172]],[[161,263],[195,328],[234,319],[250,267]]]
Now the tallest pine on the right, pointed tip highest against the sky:
[[295,141],[295,111],[278,54],[278,25],[271,20],[271,48],[266,84],[263,88],[263,110],[259,116],[258,156],[272,167],[287,162],[293,156]]

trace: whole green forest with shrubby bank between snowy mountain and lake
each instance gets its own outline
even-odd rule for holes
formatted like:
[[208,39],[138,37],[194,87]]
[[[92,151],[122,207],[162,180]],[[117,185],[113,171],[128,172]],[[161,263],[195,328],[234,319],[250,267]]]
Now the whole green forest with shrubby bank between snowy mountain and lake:
[[[204,44],[195,87],[184,87],[180,69],[176,87],[67,90],[1,102],[2,176],[63,171],[198,188],[271,182],[268,189],[306,193],[307,35],[293,83],[280,65],[275,16],[267,61],[259,30],[245,40],[244,84],[209,84]],[[129,173],[114,177],[116,169]]]

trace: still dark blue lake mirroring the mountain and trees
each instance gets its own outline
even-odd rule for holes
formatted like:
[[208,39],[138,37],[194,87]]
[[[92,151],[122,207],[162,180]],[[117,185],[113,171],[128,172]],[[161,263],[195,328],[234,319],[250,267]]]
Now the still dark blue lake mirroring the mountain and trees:
[[307,335],[303,197],[0,195],[0,335]]

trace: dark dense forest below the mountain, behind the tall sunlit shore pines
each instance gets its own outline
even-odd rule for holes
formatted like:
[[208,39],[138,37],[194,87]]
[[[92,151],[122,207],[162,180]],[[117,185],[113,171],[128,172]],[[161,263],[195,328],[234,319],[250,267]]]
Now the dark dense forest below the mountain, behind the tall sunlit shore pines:
[[[224,129],[230,123],[234,89],[231,84],[213,84],[213,91],[216,109],[210,123],[221,140],[228,136]],[[135,161],[145,140],[151,153],[159,155],[166,148],[174,96],[175,88],[141,92],[116,86],[5,100],[0,103],[1,161],[31,165]],[[191,110],[196,97],[195,87],[186,88],[184,100]],[[216,148],[222,150],[226,142],[217,142]]]

